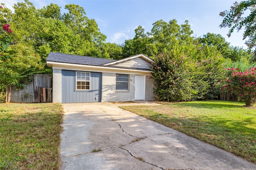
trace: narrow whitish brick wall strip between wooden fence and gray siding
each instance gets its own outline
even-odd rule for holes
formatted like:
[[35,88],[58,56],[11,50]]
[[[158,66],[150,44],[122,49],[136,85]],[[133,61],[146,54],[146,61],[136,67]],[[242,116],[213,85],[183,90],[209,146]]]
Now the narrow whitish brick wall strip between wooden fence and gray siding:
[[52,69],[52,102],[62,102],[62,70]]

